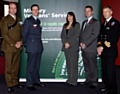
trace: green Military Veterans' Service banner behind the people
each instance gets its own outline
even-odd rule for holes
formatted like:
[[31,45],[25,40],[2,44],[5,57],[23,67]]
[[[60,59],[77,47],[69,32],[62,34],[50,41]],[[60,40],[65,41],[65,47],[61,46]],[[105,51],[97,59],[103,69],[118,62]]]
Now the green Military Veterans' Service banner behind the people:
[[[84,8],[86,5],[93,6],[94,17],[101,21],[101,0],[19,0],[20,16],[24,21],[31,15],[30,7],[38,4],[40,7],[39,19],[42,26],[42,41],[44,52],[40,65],[40,76],[43,79],[64,79],[67,78],[66,61],[64,53],[61,52],[62,44],[60,34],[63,24],[66,22],[67,12],[73,11],[77,21],[82,24],[84,21]],[[101,78],[101,61],[98,60],[99,78]],[[25,48],[21,52],[20,78],[26,77],[27,55]],[[84,79],[84,67],[79,52],[79,78]]]

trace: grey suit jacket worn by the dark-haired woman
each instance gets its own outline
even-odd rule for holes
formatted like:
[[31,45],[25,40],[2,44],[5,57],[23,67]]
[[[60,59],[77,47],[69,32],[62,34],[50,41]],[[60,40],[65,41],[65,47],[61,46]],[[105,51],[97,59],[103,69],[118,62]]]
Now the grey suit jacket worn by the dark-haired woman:
[[[74,27],[70,28],[68,34],[66,34],[66,27],[63,26],[61,32],[61,40],[62,40],[62,51],[77,51],[79,50],[79,35],[80,35],[80,24],[76,23]],[[70,48],[66,49],[65,43],[68,42],[70,44]]]

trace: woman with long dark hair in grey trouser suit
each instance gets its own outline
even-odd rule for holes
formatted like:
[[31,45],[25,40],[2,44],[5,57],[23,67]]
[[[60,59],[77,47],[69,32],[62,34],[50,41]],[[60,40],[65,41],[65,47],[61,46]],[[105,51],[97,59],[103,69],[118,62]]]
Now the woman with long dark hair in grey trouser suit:
[[66,84],[71,86],[76,86],[78,79],[79,35],[80,24],[76,21],[75,14],[68,12],[66,23],[63,25],[62,29],[61,40],[68,73]]

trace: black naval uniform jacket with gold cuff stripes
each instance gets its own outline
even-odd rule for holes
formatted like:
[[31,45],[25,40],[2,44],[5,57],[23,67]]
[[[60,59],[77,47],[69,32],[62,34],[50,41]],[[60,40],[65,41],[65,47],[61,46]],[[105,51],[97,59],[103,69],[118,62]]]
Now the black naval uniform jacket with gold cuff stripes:
[[[105,22],[101,26],[100,35],[98,38],[98,46],[103,46],[102,55],[115,56],[118,55],[117,42],[120,34],[120,23],[114,18],[111,18],[105,25]],[[104,42],[110,42],[111,47],[107,47]]]

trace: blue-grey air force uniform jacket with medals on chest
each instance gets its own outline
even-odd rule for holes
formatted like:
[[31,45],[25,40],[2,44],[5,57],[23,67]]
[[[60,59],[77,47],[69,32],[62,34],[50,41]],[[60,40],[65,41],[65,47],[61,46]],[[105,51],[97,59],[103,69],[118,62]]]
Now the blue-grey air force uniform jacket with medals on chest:
[[33,16],[26,18],[22,31],[26,52],[41,52],[43,50],[41,34],[42,28],[40,27],[40,20],[35,20]]

